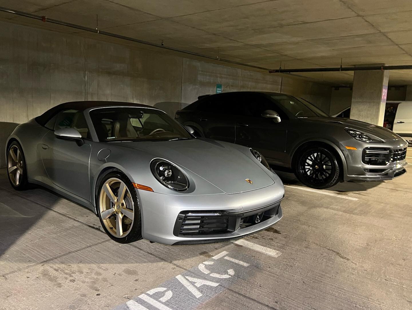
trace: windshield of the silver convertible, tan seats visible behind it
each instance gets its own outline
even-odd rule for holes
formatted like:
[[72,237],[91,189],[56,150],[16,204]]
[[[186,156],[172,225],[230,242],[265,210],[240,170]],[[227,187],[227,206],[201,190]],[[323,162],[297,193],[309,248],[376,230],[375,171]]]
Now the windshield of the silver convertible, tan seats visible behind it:
[[99,141],[170,141],[192,136],[166,113],[138,107],[97,108],[90,118]]

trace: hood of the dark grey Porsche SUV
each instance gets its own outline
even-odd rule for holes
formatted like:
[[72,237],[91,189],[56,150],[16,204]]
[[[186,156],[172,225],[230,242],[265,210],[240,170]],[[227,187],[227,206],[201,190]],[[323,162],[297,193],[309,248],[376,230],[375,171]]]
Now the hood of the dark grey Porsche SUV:
[[[303,119],[303,118],[302,118]],[[375,136],[382,140],[398,140],[402,139],[397,134],[393,133],[391,130],[386,129],[381,126],[374,124],[369,124],[366,122],[361,122],[359,120],[351,120],[349,118],[336,118],[336,117],[308,117],[306,120],[315,122],[326,122],[333,124],[341,124],[343,128],[351,128],[360,130],[365,134]]]

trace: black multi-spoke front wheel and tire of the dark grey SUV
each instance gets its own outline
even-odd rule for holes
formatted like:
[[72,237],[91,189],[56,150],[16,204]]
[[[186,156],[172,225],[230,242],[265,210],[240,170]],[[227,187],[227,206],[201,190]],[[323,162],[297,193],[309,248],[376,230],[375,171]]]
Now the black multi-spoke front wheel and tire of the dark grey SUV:
[[295,175],[311,188],[329,188],[340,181],[338,160],[333,152],[323,146],[309,146],[297,155]]

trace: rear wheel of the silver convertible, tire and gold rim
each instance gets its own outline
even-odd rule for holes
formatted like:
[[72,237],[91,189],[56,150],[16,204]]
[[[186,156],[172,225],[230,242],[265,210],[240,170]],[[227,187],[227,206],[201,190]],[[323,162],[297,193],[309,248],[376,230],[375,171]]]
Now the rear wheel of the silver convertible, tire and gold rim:
[[[16,152],[19,151],[19,153]],[[18,160],[14,160],[11,156],[13,152],[15,157],[19,157]],[[7,177],[9,179],[10,185],[15,190],[26,190],[29,188],[29,183],[27,181],[27,166],[26,166],[26,157],[24,157],[23,148],[21,147],[20,143],[17,141],[13,141],[10,143],[9,147],[7,148],[6,154],[6,168],[7,168]],[[15,168],[13,171],[11,169]],[[16,183],[16,173],[19,172],[18,182]]]

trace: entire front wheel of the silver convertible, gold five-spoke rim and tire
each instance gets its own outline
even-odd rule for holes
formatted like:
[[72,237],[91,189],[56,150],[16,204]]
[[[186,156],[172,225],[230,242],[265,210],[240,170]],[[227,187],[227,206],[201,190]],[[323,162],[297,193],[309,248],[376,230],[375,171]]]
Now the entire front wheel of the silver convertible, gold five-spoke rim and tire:
[[130,243],[142,238],[136,190],[121,172],[110,172],[100,182],[97,210],[103,229],[113,240]]

